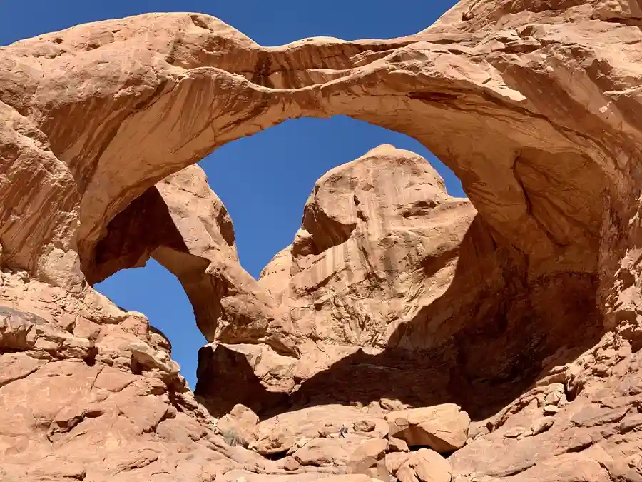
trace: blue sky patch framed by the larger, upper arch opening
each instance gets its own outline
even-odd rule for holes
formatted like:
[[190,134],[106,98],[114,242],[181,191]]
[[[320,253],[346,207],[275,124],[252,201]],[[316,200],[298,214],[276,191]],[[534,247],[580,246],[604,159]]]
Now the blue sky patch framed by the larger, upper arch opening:
[[258,279],[267,263],[292,243],[318,179],[382,144],[423,156],[449,194],[466,196],[457,176],[418,141],[347,116],[291,119],[225,144],[199,161],[233,219],[245,271]]

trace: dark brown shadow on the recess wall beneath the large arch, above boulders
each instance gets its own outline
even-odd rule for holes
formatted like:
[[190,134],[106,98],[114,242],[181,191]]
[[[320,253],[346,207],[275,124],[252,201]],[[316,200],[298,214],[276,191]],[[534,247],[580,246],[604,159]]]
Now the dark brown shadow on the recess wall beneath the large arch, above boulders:
[[[573,361],[603,333],[596,276],[559,273],[529,280],[523,264],[516,251],[498,250],[478,215],[462,242],[448,291],[400,326],[390,348],[379,355],[359,350],[287,395],[266,390],[236,351],[218,346],[212,352],[205,346],[195,393],[214,416],[229,412],[234,403],[267,418],[310,405],[367,405],[389,398],[411,406],[454,402],[482,420],[524,393],[544,368]],[[494,270],[499,276],[486,276]],[[470,276],[470,271],[477,273]],[[424,330],[432,316],[448,308],[453,294],[464,293],[469,299],[462,329],[441,346],[404,348],[404,338]],[[235,383],[235,401],[217,397]]]

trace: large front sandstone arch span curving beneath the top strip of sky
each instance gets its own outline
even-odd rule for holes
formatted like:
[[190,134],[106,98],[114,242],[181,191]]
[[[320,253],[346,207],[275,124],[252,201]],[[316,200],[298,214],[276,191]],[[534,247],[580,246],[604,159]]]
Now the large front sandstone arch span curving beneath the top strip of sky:
[[[626,193],[635,152],[630,109],[618,107],[615,90],[626,65],[579,33],[562,38],[556,24],[497,29],[476,19],[483,28],[470,34],[454,12],[391,41],[263,48],[208,16],[149,14],[2,49],[11,61],[0,100],[20,126],[5,143],[13,146],[6,176],[36,156],[41,194],[32,204],[51,219],[16,234],[25,214],[7,212],[6,263],[56,283],[75,271],[78,281],[108,221],[171,172],[287,118],[347,114],[429,147],[496,237],[527,256],[533,276],[595,271],[601,196]],[[608,44],[621,31],[594,35]],[[621,71],[611,86],[601,75],[608,68]],[[571,72],[586,89],[571,90]],[[9,185],[7,201],[20,196]]]

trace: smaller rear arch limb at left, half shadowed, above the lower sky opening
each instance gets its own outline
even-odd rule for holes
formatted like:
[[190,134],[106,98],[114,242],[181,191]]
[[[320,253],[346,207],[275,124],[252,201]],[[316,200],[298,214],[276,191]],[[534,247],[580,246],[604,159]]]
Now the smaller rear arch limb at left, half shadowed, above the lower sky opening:
[[240,267],[232,220],[200,167],[163,179],[118,214],[85,271],[96,283],[150,257],[182,283],[208,340],[265,341],[295,353],[295,343],[280,339],[277,305]]

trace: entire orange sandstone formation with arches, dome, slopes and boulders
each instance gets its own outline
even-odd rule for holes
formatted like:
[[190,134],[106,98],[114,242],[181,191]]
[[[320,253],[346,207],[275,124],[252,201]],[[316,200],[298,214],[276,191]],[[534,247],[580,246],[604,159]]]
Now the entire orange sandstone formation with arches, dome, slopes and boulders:
[[[146,14],[0,48],[0,480],[641,481],[641,25],[464,0],[390,40]],[[379,146],[254,280],[192,164],[335,114],[469,199]],[[92,288],[150,257],[208,339],[196,395]]]

